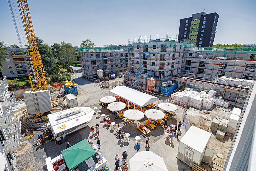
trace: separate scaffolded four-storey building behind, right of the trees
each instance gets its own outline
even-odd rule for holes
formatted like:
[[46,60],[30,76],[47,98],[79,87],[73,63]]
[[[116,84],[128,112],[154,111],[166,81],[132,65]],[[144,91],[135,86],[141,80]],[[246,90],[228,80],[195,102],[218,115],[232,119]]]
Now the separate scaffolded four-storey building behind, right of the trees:
[[128,48],[125,50],[108,46],[98,49],[78,49],[81,54],[83,76],[89,79],[98,77],[98,69],[102,69],[104,77],[108,77],[111,73],[117,76],[122,75],[133,67],[132,53]]

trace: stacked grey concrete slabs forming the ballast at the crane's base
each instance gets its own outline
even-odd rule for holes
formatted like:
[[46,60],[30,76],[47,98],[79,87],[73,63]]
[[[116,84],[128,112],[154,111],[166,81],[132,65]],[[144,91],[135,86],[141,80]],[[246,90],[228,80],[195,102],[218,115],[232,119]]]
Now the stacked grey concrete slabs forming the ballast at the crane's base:
[[49,90],[24,91],[24,101],[27,112],[30,114],[40,114],[53,109]]

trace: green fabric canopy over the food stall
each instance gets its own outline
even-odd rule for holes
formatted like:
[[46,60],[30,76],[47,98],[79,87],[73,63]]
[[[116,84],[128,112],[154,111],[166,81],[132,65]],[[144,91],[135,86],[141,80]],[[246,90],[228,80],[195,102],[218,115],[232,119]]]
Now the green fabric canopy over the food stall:
[[72,170],[88,158],[97,154],[87,139],[76,143],[75,145],[63,150],[61,153],[69,170]]

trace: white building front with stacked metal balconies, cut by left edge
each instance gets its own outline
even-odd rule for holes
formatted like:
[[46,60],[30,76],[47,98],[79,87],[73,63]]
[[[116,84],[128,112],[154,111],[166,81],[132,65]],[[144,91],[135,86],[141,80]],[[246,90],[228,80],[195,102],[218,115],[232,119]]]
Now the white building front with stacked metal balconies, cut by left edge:
[[0,171],[14,171],[15,153],[21,146],[21,122],[13,115],[15,96],[8,91],[6,77],[0,77]]

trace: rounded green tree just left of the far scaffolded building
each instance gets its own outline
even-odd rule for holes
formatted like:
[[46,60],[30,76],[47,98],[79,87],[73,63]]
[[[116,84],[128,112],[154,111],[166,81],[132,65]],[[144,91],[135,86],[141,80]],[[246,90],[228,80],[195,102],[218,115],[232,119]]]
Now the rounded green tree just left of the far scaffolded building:
[[[70,43],[61,42],[62,50],[61,50],[61,58],[67,62],[67,66],[70,63],[73,63],[76,60],[75,48]],[[69,71],[69,67],[67,67]]]

